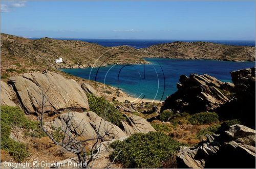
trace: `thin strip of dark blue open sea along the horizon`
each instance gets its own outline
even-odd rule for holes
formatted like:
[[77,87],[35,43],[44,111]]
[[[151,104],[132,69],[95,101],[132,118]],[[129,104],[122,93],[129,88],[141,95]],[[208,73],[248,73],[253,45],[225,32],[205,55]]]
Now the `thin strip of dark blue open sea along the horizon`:
[[[128,45],[135,48],[145,48],[152,45],[161,44],[161,43],[172,43],[174,41],[183,41],[183,42],[197,42],[202,40],[134,40],[134,39],[59,39],[59,40],[81,40],[84,42],[97,43],[102,46],[120,46]],[[255,46],[255,41],[249,40],[203,40],[204,42],[219,43],[225,45],[236,45],[236,46]]]

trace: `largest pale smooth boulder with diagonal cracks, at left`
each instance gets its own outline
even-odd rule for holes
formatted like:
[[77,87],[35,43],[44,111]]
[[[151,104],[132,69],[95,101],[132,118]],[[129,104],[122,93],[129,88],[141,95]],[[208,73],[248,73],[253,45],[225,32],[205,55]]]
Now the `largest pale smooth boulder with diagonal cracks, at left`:
[[27,114],[41,111],[44,95],[44,112],[65,108],[89,109],[86,93],[78,83],[57,73],[25,73],[23,76],[11,77],[8,85]]

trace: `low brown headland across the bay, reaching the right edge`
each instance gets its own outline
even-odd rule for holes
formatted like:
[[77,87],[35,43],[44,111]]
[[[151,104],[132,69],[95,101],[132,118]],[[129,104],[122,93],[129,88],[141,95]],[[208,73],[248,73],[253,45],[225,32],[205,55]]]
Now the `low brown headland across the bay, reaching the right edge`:
[[255,47],[222,45],[210,42],[180,42],[153,45],[140,49],[150,58],[210,59],[255,61]]

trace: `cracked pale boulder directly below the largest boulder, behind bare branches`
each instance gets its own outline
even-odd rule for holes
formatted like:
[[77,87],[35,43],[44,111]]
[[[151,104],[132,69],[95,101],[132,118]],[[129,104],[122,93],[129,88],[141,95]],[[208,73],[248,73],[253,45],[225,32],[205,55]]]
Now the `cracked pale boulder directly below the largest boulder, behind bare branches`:
[[93,139],[99,134],[104,140],[112,140],[126,136],[116,125],[105,121],[93,111],[69,111],[54,119],[53,126],[66,130],[68,133],[82,135],[86,139]]

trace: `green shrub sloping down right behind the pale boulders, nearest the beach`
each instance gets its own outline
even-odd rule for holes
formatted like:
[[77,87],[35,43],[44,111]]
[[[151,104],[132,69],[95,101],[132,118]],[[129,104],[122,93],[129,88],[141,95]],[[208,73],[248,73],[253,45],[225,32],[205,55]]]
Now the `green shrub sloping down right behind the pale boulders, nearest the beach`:
[[126,120],[122,113],[104,97],[96,97],[93,94],[87,94],[89,107],[98,116],[117,126],[121,126],[121,121]]

